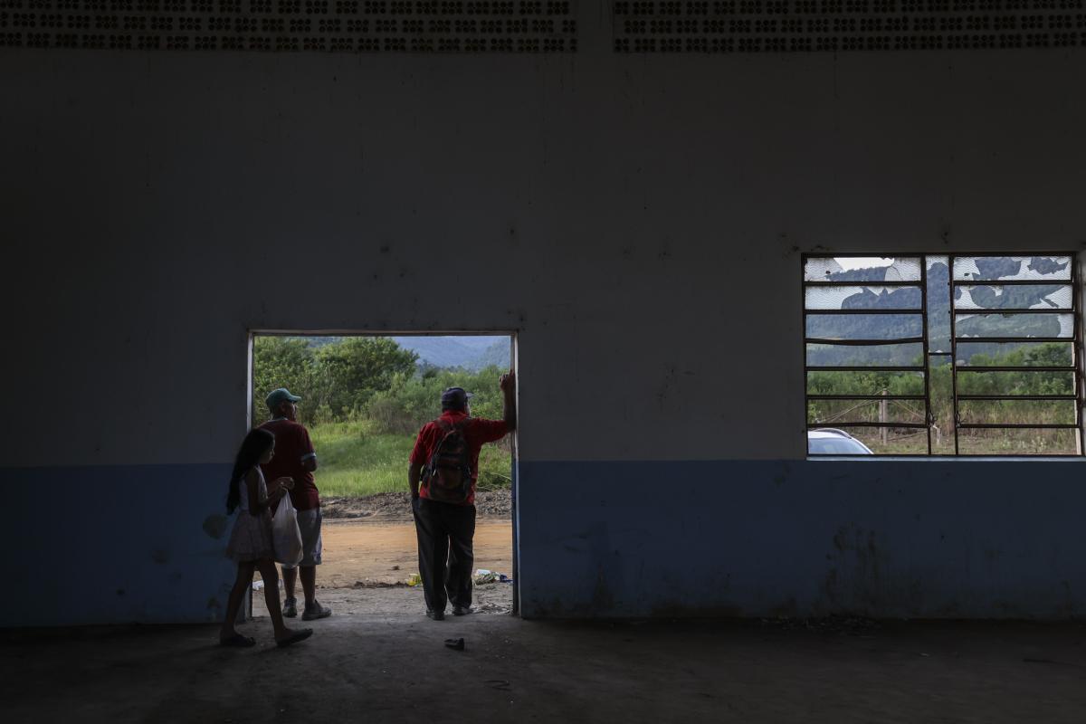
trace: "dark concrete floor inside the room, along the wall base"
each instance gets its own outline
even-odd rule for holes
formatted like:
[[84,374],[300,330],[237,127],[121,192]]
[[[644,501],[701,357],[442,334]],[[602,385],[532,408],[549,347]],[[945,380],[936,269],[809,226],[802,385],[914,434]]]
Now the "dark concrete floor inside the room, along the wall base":
[[[1082,624],[338,615],[279,650],[212,625],[0,632],[11,722],[1086,721]],[[465,637],[467,650],[443,639]]]

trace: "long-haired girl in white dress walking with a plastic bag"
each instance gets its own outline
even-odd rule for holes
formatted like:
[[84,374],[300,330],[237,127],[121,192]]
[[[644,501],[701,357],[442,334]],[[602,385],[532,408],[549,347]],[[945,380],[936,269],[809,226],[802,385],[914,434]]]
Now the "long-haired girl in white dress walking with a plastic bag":
[[275,640],[278,646],[290,646],[313,634],[312,628],[298,631],[288,628],[282,622],[279,607],[279,574],[276,571],[275,552],[272,549],[272,508],[287,491],[294,486],[291,478],[279,478],[272,483],[270,493],[261,473],[261,463],[272,460],[275,455],[275,435],[267,430],[250,430],[241,443],[238,457],[230,475],[230,492],[226,496],[226,512],[238,510],[233,521],[230,542],[226,555],[238,563],[238,577],[230,590],[226,606],[226,618],[218,634],[222,646],[253,646],[256,640],[242,636],[235,627],[241,600],[253,582],[253,571],[258,570],[264,579],[264,598],[267,601]]

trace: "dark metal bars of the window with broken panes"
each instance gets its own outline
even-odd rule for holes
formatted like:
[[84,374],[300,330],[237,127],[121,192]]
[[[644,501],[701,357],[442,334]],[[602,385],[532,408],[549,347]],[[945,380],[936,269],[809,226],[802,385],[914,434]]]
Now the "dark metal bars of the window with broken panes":
[[[809,406],[811,401],[863,401],[863,402],[877,402],[877,401],[923,401],[924,402],[924,422],[839,422],[834,421],[831,424],[835,428],[899,428],[899,429],[926,429],[927,434],[927,455],[932,455],[932,431],[931,428],[935,422],[934,414],[931,408],[931,357],[932,356],[949,356],[950,357],[950,385],[951,385],[951,404],[952,404],[952,415],[954,415],[954,437],[955,437],[955,455],[961,455],[960,444],[959,444],[959,430],[977,430],[977,429],[1037,429],[1037,430],[1060,430],[1060,429],[1077,429],[1077,453],[1075,455],[1068,454],[1056,454],[1048,455],[1046,457],[1075,457],[1082,456],[1086,453],[1086,430],[1083,429],[1083,401],[1086,396],[1086,382],[1084,382],[1084,365],[1086,365],[1086,354],[1083,351],[1083,326],[1079,319],[1079,307],[1081,301],[1078,299],[1078,265],[1076,255],[1073,252],[1025,252],[1025,253],[1010,253],[1003,252],[1000,254],[973,254],[970,257],[1003,257],[1003,256],[1057,256],[1057,257],[1069,257],[1071,264],[1070,280],[1045,280],[1045,279],[955,279],[955,259],[960,258],[962,255],[955,254],[893,254],[883,258],[908,258],[908,259],[919,259],[920,261],[920,280],[911,281],[879,281],[879,280],[807,280],[806,279],[806,265],[809,258],[832,258],[832,257],[869,257],[871,253],[869,252],[851,252],[851,253],[839,253],[839,254],[810,254],[803,255],[800,259],[800,280],[803,282],[804,289],[804,384],[805,384],[805,408]],[[929,308],[927,308],[927,262],[930,256],[946,257],[947,259],[947,293],[949,297],[950,306],[950,353],[932,353],[930,350],[930,339],[929,339]],[[956,306],[955,290],[958,287],[1001,287],[1001,285],[1032,285],[1032,287],[1071,287],[1072,291],[1072,304],[1071,308],[1034,308],[1034,309],[1018,309],[1018,308],[958,308]],[[919,288],[921,292],[921,308],[920,309],[886,309],[886,308],[857,308],[857,309],[808,309],[806,304],[807,293],[806,290],[809,287],[895,287],[895,288]],[[887,340],[832,340],[822,338],[808,338],[806,336],[807,330],[807,317],[810,315],[921,315],[921,325],[923,333],[921,338],[910,336],[910,338],[898,338],[898,339],[887,339]],[[957,333],[957,322],[959,317],[965,316],[983,316],[983,315],[1022,315],[1022,314],[1033,314],[1033,315],[1046,315],[1046,314],[1071,314],[1073,316],[1073,334],[1070,338],[1062,336],[1050,336],[1050,338],[1037,338],[1037,336],[959,336]],[[1072,360],[1073,364],[1070,367],[1061,366],[970,366],[970,365],[958,365],[958,344],[970,344],[970,343],[988,343],[988,344],[1021,344],[1021,343],[1070,343],[1072,345]],[[874,366],[874,365],[851,365],[851,366],[812,366],[807,365],[807,345],[809,344],[821,344],[831,346],[868,346],[868,345],[891,345],[891,344],[917,344],[920,343],[923,348],[923,360],[924,365],[917,366]],[[822,395],[822,394],[811,394],[807,392],[808,389],[808,373],[809,372],[918,372],[923,376],[924,394],[923,395],[882,395],[882,394],[833,394],[833,395]],[[1074,394],[1055,394],[1055,395],[970,395],[970,394],[959,394],[958,393],[958,373],[959,372],[999,372],[999,371],[1015,371],[1015,372],[1072,372],[1073,383],[1074,383]],[[961,414],[959,408],[959,401],[1074,401],[1075,405],[1075,422],[1074,423],[964,423],[961,421]],[[826,427],[826,423],[809,422],[807,423],[808,430],[818,429],[821,427]],[[808,450],[808,455],[812,455]],[[816,454],[817,455],[817,454]],[[836,457],[836,456],[835,456]],[[906,454],[900,457],[924,457],[917,454]]]

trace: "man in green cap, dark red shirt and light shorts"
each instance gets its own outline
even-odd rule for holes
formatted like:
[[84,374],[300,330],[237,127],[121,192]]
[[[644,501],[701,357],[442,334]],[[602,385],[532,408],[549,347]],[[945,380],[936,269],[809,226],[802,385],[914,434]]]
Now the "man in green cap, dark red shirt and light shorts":
[[[290,394],[285,388],[273,390],[265,397],[272,419],[261,425],[275,435],[275,457],[267,465],[262,465],[265,480],[277,478],[293,478],[294,487],[290,492],[291,503],[298,508],[298,528],[302,532],[302,560],[294,566],[282,567],[282,587],[287,600],[282,606],[286,617],[298,615],[298,600],[294,598],[294,584],[302,579],[302,593],[305,595],[305,610],[302,618],[306,621],[324,619],[332,614],[330,608],[321,606],[317,600],[317,566],[320,564],[320,494],[313,480],[313,471],[317,469],[317,454],[310,441],[310,431],[298,421],[298,406],[302,398]],[[301,570],[301,573],[299,573]]]

